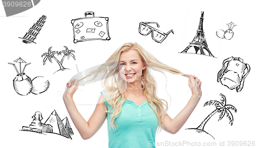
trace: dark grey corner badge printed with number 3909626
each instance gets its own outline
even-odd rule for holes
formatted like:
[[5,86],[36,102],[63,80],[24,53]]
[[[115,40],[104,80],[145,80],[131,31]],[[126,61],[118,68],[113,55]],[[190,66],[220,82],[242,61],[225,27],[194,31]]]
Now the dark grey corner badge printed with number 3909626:
[[40,0],[2,0],[6,16],[12,16],[35,7]]

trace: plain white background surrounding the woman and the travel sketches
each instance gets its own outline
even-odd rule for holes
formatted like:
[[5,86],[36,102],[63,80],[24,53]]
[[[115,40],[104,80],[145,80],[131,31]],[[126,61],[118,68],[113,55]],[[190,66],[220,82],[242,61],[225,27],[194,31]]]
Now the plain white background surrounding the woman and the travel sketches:
[[[71,20],[84,17],[84,13],[93,11],[96,17],[109,17],[109,41],[84,41],[73,43],[73,29]],[[180,54],[197,33],[198,24],[204,11],[203,30],[210,52],[216,57],[196,54]],[[165,131],[156,135],[156,142],[220,142],[225,145],[228,141],[255,141],[255,8],[253,1],[41,1],[34,8],[14,16],[6,17],[4,7],[0,6],[0,42],[2,56],[1,63],[1,145],[4,147],[108,147],[108,131],[106,121],[100,130],[90,139],[83,140],[76,130],[65,108],[62,95],[66,83],[79,71],[104,63],[119,46],[126,42],[137,42],[145,50],[153,54],[161,62],[179,69],[184,73],[196,75],[202,81],[203,96],[188,118],[182,129],[175,135]],[[36,44],[25,44],[22,39],[33,23],[42,15],[47,19],[44,27],[35,39]],[[139,22],[153,21],[160,25],[159,30],[167,33],[174,30],[162,42],[155,42],[151,35],[142,36],[138,32]],[[233,28],[234,36],[231,40],[220,39],[216,31],[228,29],[226,23],[234,22],[238,26]],[[154,26],[154,25],[153,25]],[[63,66],[72,70],[56,72],[58,64],[53,61],[43,65],[41,55],[48,52],[63,50],[67,46],[74,50],[76,60],[65,59]],[[193,48],[189,50],[193,52]],[[229,57],[240,57],[251,67],[241,92],[230,90],[217,82],[217,73],[222,68],[223,60]],[[21,57],[27,63],[25,73],[31,79],[44,76],[50,82],[49,89],[39,95],[19,95],[13,89],[13,79],[16,71],[8,62]],[[61,56],[62,57],[62,56]],[[58,57],[59,59],[61,58]],[[186,105],[190,98],[187,79],[182,76],[166,73],[167,92],[165,91],[165,78],[161,73],[154,72],[158,82],[158,94],[172,103],[168,115],[174,118]],[[100,82],[80,87],[75,93],[74,101],[84,119],[92,115],[100,91]],[[185,130],[196,128],[215,110],[214,106],[203,107],[210,100],[220,101],[220,93],[227,98],[227,104],[237,108],[232,112],[234,121],[230,126],[225,116],[218,121],[216,113],[207,122],[204,130],[215,137],[207,137],[200,133]],[[90,105],[93,104],[93,105]],[[38,134],[34,132],[19,131],[23,126],[29,126],[31,117],[36,111],[42,113],[42,122],[56,110],[61,119],[68,117],[74,131],[72,140],[56,134]],[[125,143],[124,143],[125,144]],[[184,147],[187,144],[183,145]],[[189,145],[188,145],[189,146]],[[2,146],[1,146],[2,147]],[[157,146],[167,147],[167,146]],[[210,147],[210,146],[207,146]],[[223,146],[222,146],[223,147]],[[251,146],[248,146],[251,147]]]

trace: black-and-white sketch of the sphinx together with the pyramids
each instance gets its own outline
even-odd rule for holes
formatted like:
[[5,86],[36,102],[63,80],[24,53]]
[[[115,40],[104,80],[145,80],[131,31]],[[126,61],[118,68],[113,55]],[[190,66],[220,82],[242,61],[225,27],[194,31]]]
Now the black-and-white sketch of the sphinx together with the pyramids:
[[65,117],[61,120],[55,110],[51,113],[51,115],[48,117],[44,124],[42,124],[41,122],[41,120],[43,119],[41,112],[35,112],[32,118],[33,120],[29,127],[23,126],[22,130],[20,131],[30,131],[41,134],[54,133],[69,139],[72,139],[71,136],[74,135],[68,118]]

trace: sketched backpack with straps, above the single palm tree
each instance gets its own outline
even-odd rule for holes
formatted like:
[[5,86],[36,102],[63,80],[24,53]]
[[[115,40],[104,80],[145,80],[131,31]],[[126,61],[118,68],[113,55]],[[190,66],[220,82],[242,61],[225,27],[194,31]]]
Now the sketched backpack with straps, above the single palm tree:
[[250,66],[244,63],[243,59],[230,57],[223,61],[223,67],[218,72],[217,82],[221,82],[231,90],[236,88],[239,92],[243,89],[245,78],[249,72]]

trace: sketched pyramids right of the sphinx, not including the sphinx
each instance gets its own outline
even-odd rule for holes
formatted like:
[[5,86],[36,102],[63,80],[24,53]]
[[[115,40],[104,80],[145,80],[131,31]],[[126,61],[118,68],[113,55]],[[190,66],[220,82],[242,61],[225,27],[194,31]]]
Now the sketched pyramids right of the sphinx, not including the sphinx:
[[49,118],[46,120],[45,125],[51,125],[53,133],[72,139],[69,132],[67,131],[66,127],[64,126],[63,122],[61,121],[60,117],[58,116],[55,110],[51,113]]

